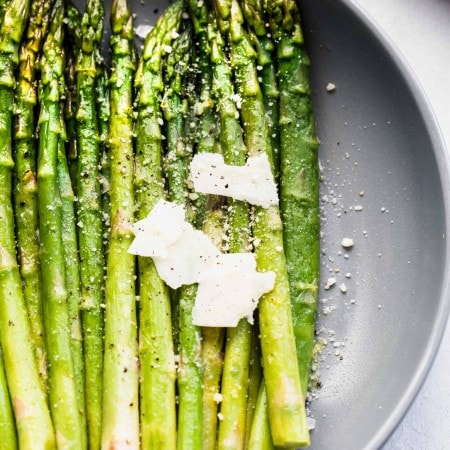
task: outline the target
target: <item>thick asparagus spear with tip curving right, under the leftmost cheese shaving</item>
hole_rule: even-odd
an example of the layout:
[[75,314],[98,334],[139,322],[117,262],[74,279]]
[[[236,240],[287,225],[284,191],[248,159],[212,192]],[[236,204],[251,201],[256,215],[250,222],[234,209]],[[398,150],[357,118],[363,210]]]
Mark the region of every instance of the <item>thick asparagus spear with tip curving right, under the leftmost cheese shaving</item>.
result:
[[[135,195],[137,218],[147,217],[164,198],[161,157],[160,95],[163,46],[180,26],[182,1],[158,19],[144,43],[135,76],[138,90]],[[150,258],[139,264],[140,405],[143,447],[176,447],[175,364],[169,292]]]

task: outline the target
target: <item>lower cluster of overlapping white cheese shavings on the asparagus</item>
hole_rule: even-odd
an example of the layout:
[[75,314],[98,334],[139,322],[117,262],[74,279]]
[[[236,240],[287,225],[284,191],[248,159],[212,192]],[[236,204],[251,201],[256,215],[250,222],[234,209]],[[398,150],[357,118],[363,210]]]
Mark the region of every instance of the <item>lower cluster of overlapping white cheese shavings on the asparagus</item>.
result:
[[[234,327],[273,289],[274,272],[258,272],[253,253],[222,254],[202,231],[185,221],[183,206],[160,200],[132,226],[129,253],[153,258],[159,276],[171,288],[198,283],[193,323]],[[230,282],[232,280],[232,282]]]

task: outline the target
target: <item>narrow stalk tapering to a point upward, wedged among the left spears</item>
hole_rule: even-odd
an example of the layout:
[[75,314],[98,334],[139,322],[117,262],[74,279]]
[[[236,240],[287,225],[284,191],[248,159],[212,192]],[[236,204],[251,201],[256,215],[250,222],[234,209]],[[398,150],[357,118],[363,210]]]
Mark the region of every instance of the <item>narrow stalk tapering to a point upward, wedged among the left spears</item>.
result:
[[[62,125],[64,131],[64,127]],[[69,313],[70,342],[73,360],[73,373],[76,385],[79,416],[83,434],[83,447],[86,447],[86,404],[84,396],[83,337],[80,320],[80,272],[78,260],[78,241],[74,208],[74,194],[70,180],[64,148],[64,135],[58,141],[57,175],[61,197],[62,243],[66,273],[67,308]]]

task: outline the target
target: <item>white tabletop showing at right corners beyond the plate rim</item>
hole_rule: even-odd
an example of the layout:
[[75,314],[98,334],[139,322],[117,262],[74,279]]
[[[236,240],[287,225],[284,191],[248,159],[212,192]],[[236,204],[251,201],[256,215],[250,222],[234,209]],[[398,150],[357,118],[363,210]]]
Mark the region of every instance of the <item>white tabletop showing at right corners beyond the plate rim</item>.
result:
[[[450,1],[353,0],[403,53],[450,151]],[[418,397],[383,450],[450,449],[450,325]]]

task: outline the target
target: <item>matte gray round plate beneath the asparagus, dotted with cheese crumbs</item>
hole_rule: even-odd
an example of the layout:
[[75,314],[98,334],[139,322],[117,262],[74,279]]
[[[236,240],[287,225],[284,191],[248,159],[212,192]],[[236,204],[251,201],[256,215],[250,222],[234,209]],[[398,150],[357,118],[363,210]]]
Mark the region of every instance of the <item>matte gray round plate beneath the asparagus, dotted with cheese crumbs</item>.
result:
[[[131,4],[139,26],[167,3]],[[321,290],[328,344],[312,448],[377,448],[416,395],[446,322],[448,161],[421,89],[367,17],[346,0],[301,8],[324,177],[322,286],[337,280]]]

